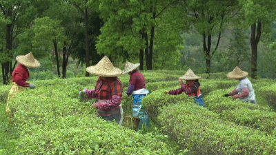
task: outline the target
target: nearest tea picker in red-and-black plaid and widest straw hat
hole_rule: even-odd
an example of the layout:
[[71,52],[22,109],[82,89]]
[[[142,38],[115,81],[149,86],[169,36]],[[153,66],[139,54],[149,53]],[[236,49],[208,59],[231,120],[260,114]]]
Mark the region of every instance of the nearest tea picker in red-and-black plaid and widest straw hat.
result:
[[122,74],[119,68],[115,68],[108,56],[104,56],[97,65],[86,68],[90,74],[99,76],[96,86],[92,90],[86,88],[79,92],[79,96],[87,96],[89,99],[97,99],[90,107],[96,107],[98,116],[106,121],[115,121],[121,126],[123,121],[123,109],[121,98],[123,96],[123,84],[117,76]]

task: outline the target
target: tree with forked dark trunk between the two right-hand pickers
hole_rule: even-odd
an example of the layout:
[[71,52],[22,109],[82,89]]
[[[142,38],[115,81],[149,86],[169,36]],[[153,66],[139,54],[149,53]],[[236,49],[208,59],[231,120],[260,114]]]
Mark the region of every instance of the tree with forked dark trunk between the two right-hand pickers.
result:
[[[186,14],[184,22],[193,23],[193,28],[203,38],[203,52],[208,74],[210,74],[212,56],[219,47],[221,33],[234,20],[233,17],[239,9],[236,0],[184,0],[179,3],[179,16]],[[212,38],[215,35],[218,37],[215,48],[212,48]]]

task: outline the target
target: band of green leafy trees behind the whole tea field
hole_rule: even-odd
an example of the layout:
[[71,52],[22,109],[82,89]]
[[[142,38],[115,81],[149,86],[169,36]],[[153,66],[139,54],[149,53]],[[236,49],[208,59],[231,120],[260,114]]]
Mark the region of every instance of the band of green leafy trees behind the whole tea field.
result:
[[[75,73],[68,68],[70,58],[88,67],[105,55],[119,68],[131,61],[140,70],[210,74],[239,65],[253,79],[275,78],[275,66],[268,63],[275,62],[275,2],[1,1],[1,83],[10,81],[16,56],[28,52],[52,65],[37,72],[63,79]],[[89,76],[83,72],[78,76]]]

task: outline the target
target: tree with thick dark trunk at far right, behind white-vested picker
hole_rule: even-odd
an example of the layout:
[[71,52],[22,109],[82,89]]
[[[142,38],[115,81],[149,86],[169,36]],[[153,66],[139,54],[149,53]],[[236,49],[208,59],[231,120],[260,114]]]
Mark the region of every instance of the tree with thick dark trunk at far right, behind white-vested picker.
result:
[[239,0],[243,6],[246,25],[251,27],[251,78],[257,75],[257,48],[262,32],[270,32],[270,26],[275,20],[276,1],[271,0]]

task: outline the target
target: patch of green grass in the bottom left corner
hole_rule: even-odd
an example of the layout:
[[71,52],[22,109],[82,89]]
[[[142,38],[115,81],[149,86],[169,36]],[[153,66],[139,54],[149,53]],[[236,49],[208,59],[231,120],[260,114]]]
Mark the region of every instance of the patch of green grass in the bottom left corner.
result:
[[19,132],[6,117],[6,103],[0,102],[0,154],[12,154]]

